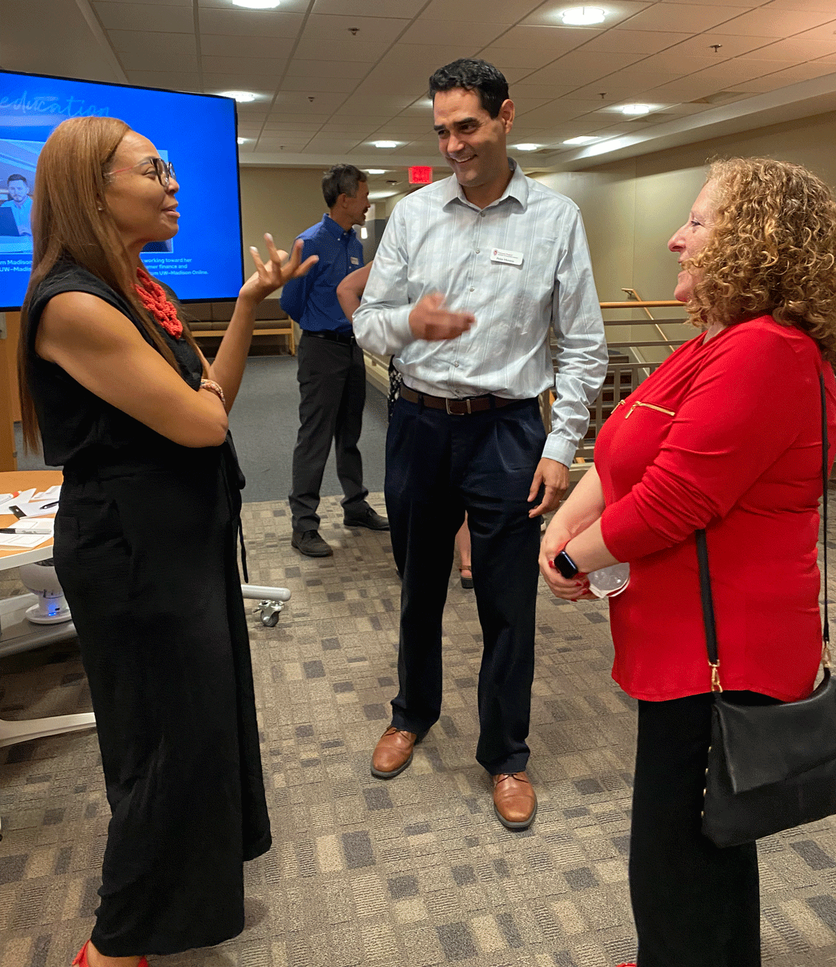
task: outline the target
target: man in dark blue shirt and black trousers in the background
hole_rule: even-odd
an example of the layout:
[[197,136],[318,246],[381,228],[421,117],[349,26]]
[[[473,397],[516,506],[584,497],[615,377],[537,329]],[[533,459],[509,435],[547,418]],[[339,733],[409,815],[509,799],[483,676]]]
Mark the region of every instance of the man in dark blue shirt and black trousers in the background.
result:
[[362,246],[353,225],[369,209],[366,177],[353,164],[335,164],[322,180],[329,211],[299,237],[303,259],[319,262],[303,278],[291,279],[281,293],[281,308],[302,328],[299,342],[299,436],[293,452],[291,543],[308,557],[333,551],[319,535],[319,490],[331,442],[336,445],[336,474],[345,497],[346,527],[389,530],[389,521],[366,503],[358,440],[365,404],[362,350],[336,299],[336,287],[362,265]]

